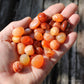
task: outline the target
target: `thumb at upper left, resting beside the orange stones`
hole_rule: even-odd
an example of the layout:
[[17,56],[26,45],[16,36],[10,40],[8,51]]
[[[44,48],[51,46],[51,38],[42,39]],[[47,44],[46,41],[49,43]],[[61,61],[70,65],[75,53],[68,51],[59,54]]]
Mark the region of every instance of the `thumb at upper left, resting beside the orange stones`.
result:
[[0,32],[0,40],[11,41],[13,29],[20,26],[26,28],[31,20],[32,19],[30,17],[26,17],[20,21],[11,22]]

